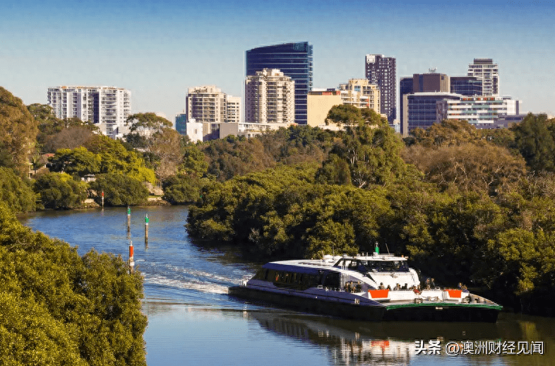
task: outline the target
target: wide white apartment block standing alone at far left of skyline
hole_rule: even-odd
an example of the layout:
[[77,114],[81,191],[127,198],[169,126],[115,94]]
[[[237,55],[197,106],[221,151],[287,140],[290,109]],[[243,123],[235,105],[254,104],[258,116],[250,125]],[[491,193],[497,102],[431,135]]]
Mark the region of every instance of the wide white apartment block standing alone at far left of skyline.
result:
[[93,122],[112,138],[121,135],[131,114],[131,91],[112,86],[48,88],[47,102],[56,117]]

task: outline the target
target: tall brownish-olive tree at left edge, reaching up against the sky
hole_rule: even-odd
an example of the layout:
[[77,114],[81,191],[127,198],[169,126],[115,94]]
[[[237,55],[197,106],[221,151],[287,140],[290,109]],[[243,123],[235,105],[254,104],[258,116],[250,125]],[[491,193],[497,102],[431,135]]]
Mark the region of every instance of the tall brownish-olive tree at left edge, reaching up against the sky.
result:
[[29,157],[37,138],[37,123],[20,98],[0,87],[0,163],[20,177],[29,172]]

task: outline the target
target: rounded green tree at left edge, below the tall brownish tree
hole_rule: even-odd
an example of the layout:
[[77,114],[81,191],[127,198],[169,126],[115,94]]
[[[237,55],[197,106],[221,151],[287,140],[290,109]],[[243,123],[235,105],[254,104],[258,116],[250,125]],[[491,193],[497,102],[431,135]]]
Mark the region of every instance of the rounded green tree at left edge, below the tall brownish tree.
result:
[[36,208],[30,182],[16,176],[7,167],[0,167],[0,202],[16,213],[35,211]]

